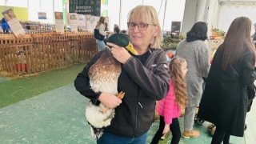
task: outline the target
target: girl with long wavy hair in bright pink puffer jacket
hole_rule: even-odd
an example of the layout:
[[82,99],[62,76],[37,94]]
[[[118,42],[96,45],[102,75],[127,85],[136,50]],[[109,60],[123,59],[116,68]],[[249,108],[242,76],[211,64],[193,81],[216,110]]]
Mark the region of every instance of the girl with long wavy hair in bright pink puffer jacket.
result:
[[181,138],[178,117],[181,115],[181,108],[187,105],[185,75],[186,60],[174,57],[169,64],[170,90],[165,98],[157,104],[157,112],[160,115],[160,125],[154,135],[151,144],[158,144],[163,134],[171,131],[173,138],[171,144],[178,144]]

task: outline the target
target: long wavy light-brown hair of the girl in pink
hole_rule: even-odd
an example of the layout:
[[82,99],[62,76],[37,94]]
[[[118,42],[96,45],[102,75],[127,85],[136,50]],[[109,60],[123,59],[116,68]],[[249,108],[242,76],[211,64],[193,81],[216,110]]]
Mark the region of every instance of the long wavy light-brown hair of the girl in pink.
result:
[[186,62],[186,60],[177,56],[172,58],[169,65],[169,72],[174,83],[175,102],[179,107],[183,108],[187,106],[188,98],[186,93],[186,81],[182,76],[182,62]]

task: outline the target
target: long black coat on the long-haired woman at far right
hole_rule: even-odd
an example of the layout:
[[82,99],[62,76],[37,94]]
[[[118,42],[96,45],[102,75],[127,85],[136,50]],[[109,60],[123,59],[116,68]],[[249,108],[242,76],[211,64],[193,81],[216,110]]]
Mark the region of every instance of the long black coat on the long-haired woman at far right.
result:
[[234,66],[222,70],[223,52],[220,46],[214,55],[198,118],[214,123],[226,134],[243,137],[248,103],[246,86],[253,84],[256,75],[254,55],[245,48]]

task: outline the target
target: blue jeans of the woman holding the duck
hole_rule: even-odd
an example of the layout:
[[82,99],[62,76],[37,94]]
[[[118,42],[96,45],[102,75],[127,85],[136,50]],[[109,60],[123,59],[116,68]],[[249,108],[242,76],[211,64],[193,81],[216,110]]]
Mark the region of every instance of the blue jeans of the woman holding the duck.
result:
[[102,137],[98,139],[97,144],[145,144],[146,138],[147,133],[136,138],[126,138],[103,132]]

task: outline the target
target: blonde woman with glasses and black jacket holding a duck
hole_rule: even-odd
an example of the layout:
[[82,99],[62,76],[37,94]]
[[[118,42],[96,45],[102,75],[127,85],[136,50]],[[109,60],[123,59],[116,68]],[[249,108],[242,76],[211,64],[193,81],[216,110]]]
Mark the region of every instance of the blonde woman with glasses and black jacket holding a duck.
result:
[[162,30],[158,13],[153,6],[136,6],[130,11],[127,23],[128,34],[138,55],[107,43],[113,46],[111,52],[114,58],[122,63],[122,73],[118,78],[118,92],[126,92],[122,101],[114,94],[95,94],[90,89],[88,70],[102,52],[96,54],[74,82],[76,89],[95,105],[102,102],[110,108],[118,106],[98,144],[146,143],[147,132],[154,122],[155,102],[164,98],[169,90],[166,53],[159,49]]

